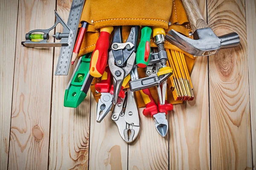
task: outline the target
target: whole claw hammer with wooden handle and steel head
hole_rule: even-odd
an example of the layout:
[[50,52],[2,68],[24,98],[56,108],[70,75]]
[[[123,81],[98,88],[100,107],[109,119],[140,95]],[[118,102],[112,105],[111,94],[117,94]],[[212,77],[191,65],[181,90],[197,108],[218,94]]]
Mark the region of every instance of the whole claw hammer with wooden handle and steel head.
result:
[[236,32],[219,37],[214,34],[204,20],[197,0],[182,0],[182,3],[192,31],[194,31],[193,39],[172,29],[168,32],[172,36],[166,35],[166,40],[194,56],[208,56],[215,54],[219,49],[233,48],[239,45],[240,38]]

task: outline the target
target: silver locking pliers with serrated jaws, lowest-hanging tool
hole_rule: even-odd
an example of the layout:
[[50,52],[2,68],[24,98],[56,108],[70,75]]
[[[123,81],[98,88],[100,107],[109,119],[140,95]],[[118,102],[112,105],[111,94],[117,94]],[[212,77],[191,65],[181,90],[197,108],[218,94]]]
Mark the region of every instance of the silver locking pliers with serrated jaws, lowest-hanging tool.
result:
[[134,92],[125,89],[125,99],[118,97],[113,108],[112,120],[116,123],[119,134],[126,143],[133,142],[140,132],[140,116],[137,109]]

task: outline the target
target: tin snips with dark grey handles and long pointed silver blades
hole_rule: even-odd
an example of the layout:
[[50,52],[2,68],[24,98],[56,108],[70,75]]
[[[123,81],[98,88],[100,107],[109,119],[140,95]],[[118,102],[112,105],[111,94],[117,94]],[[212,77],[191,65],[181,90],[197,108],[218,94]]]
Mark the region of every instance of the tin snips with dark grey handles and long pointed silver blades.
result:
[[129,37],[124,43],[122,42],[122,26],[114,28],[111,50],[108,54],[108,65],[113,75],[114,105],[117,102],[123,80],[135,64],[139,28],[139,26],[132,26]]

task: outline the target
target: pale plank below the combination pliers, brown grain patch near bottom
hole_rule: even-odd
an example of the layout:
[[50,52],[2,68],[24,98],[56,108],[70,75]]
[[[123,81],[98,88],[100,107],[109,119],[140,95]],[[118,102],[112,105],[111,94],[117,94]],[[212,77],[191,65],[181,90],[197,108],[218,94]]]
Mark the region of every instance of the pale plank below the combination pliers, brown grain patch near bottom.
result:
[[126,170],[128,144],[119,135],[109,112],[102,122],[96,122],[97,103],[91,95],[90,170]]

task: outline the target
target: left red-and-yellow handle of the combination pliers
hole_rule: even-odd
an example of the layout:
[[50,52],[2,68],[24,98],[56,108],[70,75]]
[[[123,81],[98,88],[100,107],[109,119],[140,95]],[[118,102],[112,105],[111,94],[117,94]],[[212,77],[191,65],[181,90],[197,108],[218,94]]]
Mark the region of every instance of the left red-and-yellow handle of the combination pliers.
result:
[[100,93],[108,93],[111,85],[111,72],[109,67],[106,67],[104,73],[102,74],[102,79],[99,83],[95,84],[95,90]]

